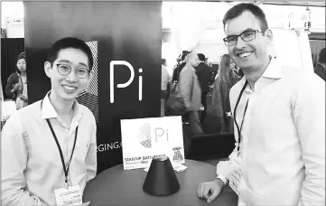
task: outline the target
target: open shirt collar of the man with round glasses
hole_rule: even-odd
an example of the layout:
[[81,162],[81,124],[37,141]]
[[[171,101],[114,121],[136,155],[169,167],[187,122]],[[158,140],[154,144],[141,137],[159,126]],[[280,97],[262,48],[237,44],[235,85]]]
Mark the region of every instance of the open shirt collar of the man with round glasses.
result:
[[[55,109],[52,106],[52,103],[50,101],[50,93],[51,90],[45,95],[45,97],[42,99],[41,103],[41,112],[42,112],[42,118],[58,118],[58,113],[55,111]],[[74,101],[72,108],[74,109],[74,117],[77,117],[78,119],[82,115],[82,111],[79,107],[79,103],[77,100]]]

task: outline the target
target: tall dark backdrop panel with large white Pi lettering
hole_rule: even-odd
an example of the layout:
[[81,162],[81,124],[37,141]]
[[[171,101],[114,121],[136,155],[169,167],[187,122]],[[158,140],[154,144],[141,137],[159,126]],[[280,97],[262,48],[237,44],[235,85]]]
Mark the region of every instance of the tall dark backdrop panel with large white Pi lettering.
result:
[[[43,63],[53,42],[66,36],[98,42],[98,172],[122,163],[120,119],[160,116],[161,5],[161,2],[24,2],[31,103],[51,89]],[[135,71],[134,80],[126,88],[116,87],[130,79],[131,71],[124,65],[114,66],[111,87],[110,63],[115,61],[126,61]],[[143,83],[139,87],[140,76]],[[138,99],[139,90],[142,100]]]

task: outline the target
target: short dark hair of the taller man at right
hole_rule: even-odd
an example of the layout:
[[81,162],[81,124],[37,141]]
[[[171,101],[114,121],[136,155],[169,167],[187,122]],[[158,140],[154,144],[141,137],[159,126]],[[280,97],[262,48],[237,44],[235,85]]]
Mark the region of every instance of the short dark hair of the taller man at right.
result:
[[251,14],[254,14],[256,18],[260,22],[260,29],[265,31],[268,29],[268,23],[266,20],[265,13],[259,6],[251,4],[251,3],[242,3],[233,6],[230,8],[227,12],[227,14],[224,15],[223,18],[223,28],[225,30],[225,25],[228,23],[229,20],[232,20],[234,18],[237,18],[239,15],[244,13],[245,11],[251,12]]

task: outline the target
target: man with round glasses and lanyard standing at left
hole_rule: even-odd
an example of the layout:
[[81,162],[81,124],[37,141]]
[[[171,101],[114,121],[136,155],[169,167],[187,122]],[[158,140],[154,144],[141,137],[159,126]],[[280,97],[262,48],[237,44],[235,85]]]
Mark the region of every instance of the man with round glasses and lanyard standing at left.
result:
[[88,45],[77,38],[51,46],[44,62],[51,90],[3,128],[2,205],[61,205],[67,193],[81,204],[97,173],[95,118],[76,100],[93,77],[92,65]]

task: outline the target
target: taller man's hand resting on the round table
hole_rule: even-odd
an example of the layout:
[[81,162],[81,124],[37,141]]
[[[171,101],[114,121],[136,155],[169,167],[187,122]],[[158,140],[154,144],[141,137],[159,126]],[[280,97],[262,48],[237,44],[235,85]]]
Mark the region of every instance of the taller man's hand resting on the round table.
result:
[[216,179],[213,182],[200,183],[197,190],[197,196],[199,198],[205,198],[207,202],[210,203],[219,196],[219,192],[223,185],[224,183],[219,179]]

